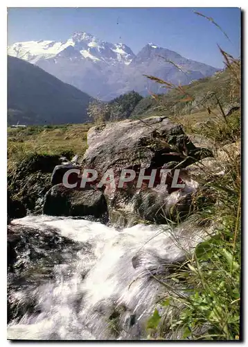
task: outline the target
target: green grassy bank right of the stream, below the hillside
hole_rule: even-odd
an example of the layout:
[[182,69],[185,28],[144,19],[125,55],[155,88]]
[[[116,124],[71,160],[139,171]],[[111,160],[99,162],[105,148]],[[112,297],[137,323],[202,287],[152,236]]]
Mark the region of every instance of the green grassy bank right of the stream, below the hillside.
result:
[[[161,305],[175,310],[158,316],[154,311],[150,337],[155,339],[236,340],[240,339],[241,194],[240,161],[229,153],[227,174],[205,184],[215,203],[204,206],[200,219],[215,223],[209,235],[175,266],[167,281]],[[205,193],[206,194],[206,193]],[[150,322],[148,321],[148,327]]]

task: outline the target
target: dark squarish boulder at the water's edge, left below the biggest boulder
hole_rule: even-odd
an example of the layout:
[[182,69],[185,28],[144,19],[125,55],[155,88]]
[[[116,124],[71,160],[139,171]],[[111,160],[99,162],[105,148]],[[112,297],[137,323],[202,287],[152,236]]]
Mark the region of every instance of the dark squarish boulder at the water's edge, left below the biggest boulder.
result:
[[107,214],[107,203],[98,189],[70,189],[60,183],[46,193],[43,212],[51,216],[99,218]]

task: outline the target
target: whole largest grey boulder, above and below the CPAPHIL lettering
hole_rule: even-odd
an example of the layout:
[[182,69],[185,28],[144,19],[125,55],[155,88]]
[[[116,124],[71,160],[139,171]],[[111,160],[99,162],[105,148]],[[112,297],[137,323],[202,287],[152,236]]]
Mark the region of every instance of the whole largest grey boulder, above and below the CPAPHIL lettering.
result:
[[159,223],[170,217],[175,206],[179,213],[189,210],[191,194],[196,191],[197,183],[191,179],[186,182],[179,176],[181,183],[186,183],[184,188],[172,189],[168,184],[163,189],[158,187],[160,180],[156,177],[154,187],[148,188],[144,182],[140,189],[136,189],[140,170],[145,169],[145,174],[149,174],[152,169],[157,169],[159,177],[161,169],[183,169],[198,160],[213,157],[210,149],[196,147],[181,126],[166,117],[127,119],[95,126],[87,134],[87,143],[82,164],[96,169],[98,180],[107,169],[114,170],[116,183],[121,169],[136,171],[136,178],[123,189],[117,188],[113,192],[110,185],[105,185],[104,194],[109,209],[127,209],[143,219]]

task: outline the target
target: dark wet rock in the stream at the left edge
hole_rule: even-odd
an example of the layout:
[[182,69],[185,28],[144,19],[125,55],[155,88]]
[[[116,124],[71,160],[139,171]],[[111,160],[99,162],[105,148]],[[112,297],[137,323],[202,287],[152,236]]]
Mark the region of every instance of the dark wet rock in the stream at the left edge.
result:
[[87,244],[73,242],[55,228],[39,230],[12,223],[7,229],[7,245],[8,322],[25,314],[38,314],[41,305],[32,295],[35,289],[54,278],[54,266],[70,262],[78,251],[87,253]]

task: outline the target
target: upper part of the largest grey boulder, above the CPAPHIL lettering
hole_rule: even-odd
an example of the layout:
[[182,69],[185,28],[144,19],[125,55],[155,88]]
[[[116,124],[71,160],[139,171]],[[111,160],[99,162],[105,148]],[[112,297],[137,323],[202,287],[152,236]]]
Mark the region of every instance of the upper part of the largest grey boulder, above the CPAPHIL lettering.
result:
[[197,149],[182,127],[166,117],[95,126],[89,129],[87,144],[83,163],[99,174],[110,168],[139,165],[142,169],[182,162]]

